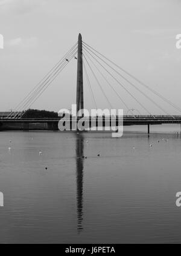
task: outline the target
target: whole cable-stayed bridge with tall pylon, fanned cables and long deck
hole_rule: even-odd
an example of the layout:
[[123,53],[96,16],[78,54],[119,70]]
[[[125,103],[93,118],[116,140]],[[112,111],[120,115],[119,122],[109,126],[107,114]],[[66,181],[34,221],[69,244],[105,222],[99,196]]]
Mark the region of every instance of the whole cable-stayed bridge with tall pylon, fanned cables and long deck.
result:
[[[77,93],[76,93],[76,104],[77,104],[77,121],[81,118],[84,118],[84,122],[89,123],[88,126],[91,127],[91,121],[94,121],[96,127],[100,125],[98,116],[90,116],[86,118],[84,115],[84,81],[83,75],[87,80],[87,85],[89,87],[90,98],[92,99],[92,103],[94,103],[95,109],[98,109],[97,102],[95,99],[95,95],[90,83],[90,77],[87,72],[87,68],[91,72],[93,78],[95,79],[95,83],[97,83],[98,88],[100,89],[103,97],[106,99],[107,104],[110,109],[113,109],[112,103],[110,103],[109,96],[106,95],[106,91],[102,87],[100,80],[97,78],[95,74],[95,70],[97,73],[101,75],[104,83],[107,84],[109,89],[115,93],[115,96],[119,98],[121,101],[121,108],[125,109],[127,113],[133,111],[131,109],[122,95],[118,93],[118,90],[115,89],[113,84],[118,84],[124,93],[130,96],[134,100],[134,102],[144,110],[145,114],[142,115],[138,110],[139,115],[124,115],[123,116],[123,124],[124,126],[132,126],[132,125],[145,125],[148,127],[148,133],[150,133],[150,125],[151,124],[180,124],[181,127],[181,115],[171,115],[168,113],[164,107],[160,104],[160,101],[168,104],[169,107],[172,107],[174,110],[177,110],[181,114],[180,107],[171,103],[170,100],[165,98],[163,95],[157,93],[155,90],[151,89],[147,86],[147,84],[143,83],[141,80],[127,72],[126,70],[119,67],[113,61],[108,59],[106,56],[95,50],[93,47],[88,45],[86,42],[83,42],[81,34],[78,35],[78,42],[57,62],[56,66],[54,66],[49,73],[31,90],[30,93],[16,106],[16,111],[11,111],[8,116],[2,118],[0,120],[0,130],[8,129],[20,129],[20,130],[29,130],[30,124],[46,124],[47,129],[58,130],[58,123],[60,121],[59,118],[25,118],[25,113],[28,109],[34,104],[35,101],[42,95],[42,93],[52,84],[54,79],[62,72],[63,69],[72,61],[72,59],[77,61]],[[87,66],[87,67],[86,67]],[[84,71],[84,72],[83,72]],[[103,71],[106,72],[106,75],[103,74]],[[110,83],[109,78],[112,78],[112,83]],[[121,79],[121,80],[120,80]],[[125,84],[122,82],[127,84]],[[159,111],[162,112],[160,115],[154,115],[148,110],[147,106],[144,103],[139,101],[132,90],[129,89],[128,85],[132,87],[137,93],[144,96],[147,101],[152,103],[154,107],[157,107]],[[139,86],[138,86],[139,85]],[[147,90],[147,93],[142,90],[144,88]],[[149,92],[149,93],[148,93]],[[156,96],[159,99],[159,103],[153,98],[151,98],[151,94]],[[125,111],[125,112],[126,112]],[[71,122],[72,127],[72,116],[70,115],[69,120]],[[111,121],[116,122],[116,126],[118,126],[118,116],[115,116],[111,119],[111,116],[103,116],[103,127],[107,124],[111,125]]]

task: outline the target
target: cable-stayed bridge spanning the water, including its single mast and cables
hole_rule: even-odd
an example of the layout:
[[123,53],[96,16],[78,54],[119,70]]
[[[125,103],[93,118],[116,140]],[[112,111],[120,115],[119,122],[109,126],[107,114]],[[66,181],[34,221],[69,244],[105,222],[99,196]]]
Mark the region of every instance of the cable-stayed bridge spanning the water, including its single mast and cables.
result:
[[[77,120],[84,116],[84,105],[86,104],[84,100],[84,80],[86,80],[87,88],[89,89],[89,98],[92,100],[92,106],[94,106],[94,109],[99,107],[97,93],[94,92],[92,86],[92,79],[94,79],[94,85],[96,84],[97,90],[101,92],[101,100],[104,99],[109,109],[115,109],[110,100],[110,92],[111,96],[114,95],[119,100],[119,109],[124,109],[124,113],[127,113],[123,117],[124,125],[147,125],[149,133],[150,124],[181,124],[181,109],[179,106],[176,106],[164,95],[156,92],[136,76],[122,69],[115,62],[95,50],[84,42],[81,35],[79,35],[78,42],[72,46],[33,90],[17,104],[16,111],[11,111],[6,118],[0,120],[0,129],[3,130],[6,124],[22,124],[22,129],[29,130],[29,124],[31,123],[46,123],[48,129],[56,130],[60,118],[26,118],[26,113],[72,60],[77,61]],[[109,93],[106,92],[106,88],[109,88]],[[121,92],[119,89],[121,89]],[[132,106],[136,106],[135,109],[127,103],[128,97],[129,101],[132,99]],[[141,98],[144,100],[141,101]],[[159,115],[154,115],[146,103],[157,109]],[[169,106],[171,111],[177,111],[178,115],[168,113],[164,107],[165,105]],[[139,110],[137,110],[138,108]],[[137,111],[136,114],[133,113],[134,110]],[[130,112],[132,115],[128,115]],[[106,119],[110,117],[106,116]],[[91,118],[87,118],[86,121],[91,126]],[[115,116],[115,121],[118,121],[118,116]],[[98,126],[98,121],[95,120],[95,122],[96,126]],[[103,126],[105,126],[105,123],[105,120],[103,120]]]

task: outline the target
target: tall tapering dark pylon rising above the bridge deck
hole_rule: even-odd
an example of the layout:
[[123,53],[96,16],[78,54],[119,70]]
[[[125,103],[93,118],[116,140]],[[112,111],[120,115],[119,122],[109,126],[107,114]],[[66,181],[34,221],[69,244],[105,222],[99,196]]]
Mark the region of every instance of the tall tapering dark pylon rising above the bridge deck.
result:
[[[83,94],[83,53],[82,53],[82,37],[78,35],[78,56],[77,56],[77,115],[83,116],[84,94]],[[81,111],[82,110],[82,111]]]

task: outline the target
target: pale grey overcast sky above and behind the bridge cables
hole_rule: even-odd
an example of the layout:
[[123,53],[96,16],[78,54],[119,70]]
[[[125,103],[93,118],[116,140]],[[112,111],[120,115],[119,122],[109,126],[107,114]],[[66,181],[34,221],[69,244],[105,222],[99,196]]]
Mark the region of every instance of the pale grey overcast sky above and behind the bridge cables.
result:
[[[0,0],[0,34],[4,36],[0,110],[15,109],[77,42],[78,33],[84,42],[181,108],[181,49],[176,49],[180,9],[180,0]],[[69,109],[75,104],[76,76],[74,59],[32,107]],[[91,73],[90,83],[97,106],[109,107]],[[145,113],[115,81],[110,83],[128,109]],[[103,81],[102,85],[112,106],[124,108]],[[130,85],[125,86],[151,113],[162,113]],[[149,91],[145,93],[168,113],[180,114]],[[85,78],[84,103],[87,109],[94,108]]]

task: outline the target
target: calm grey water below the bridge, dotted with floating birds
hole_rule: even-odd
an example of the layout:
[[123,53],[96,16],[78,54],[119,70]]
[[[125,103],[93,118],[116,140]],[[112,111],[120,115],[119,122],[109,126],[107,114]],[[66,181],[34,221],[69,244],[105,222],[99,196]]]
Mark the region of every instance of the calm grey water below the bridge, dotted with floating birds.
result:
[[0,243],[181,243],[180,127],[154,129],[1,132]]

